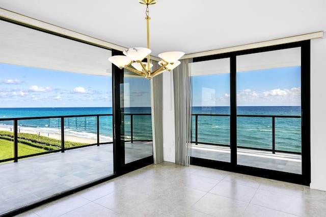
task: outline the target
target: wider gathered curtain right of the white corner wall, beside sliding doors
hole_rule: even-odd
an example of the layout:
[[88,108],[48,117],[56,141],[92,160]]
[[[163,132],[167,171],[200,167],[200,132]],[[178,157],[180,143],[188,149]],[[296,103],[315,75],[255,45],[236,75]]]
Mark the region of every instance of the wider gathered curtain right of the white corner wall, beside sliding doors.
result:
[[192,120],[191,59],[182,59],[180,61],[181,64],[173,70],[175,160],[176,164],[189,166]]

